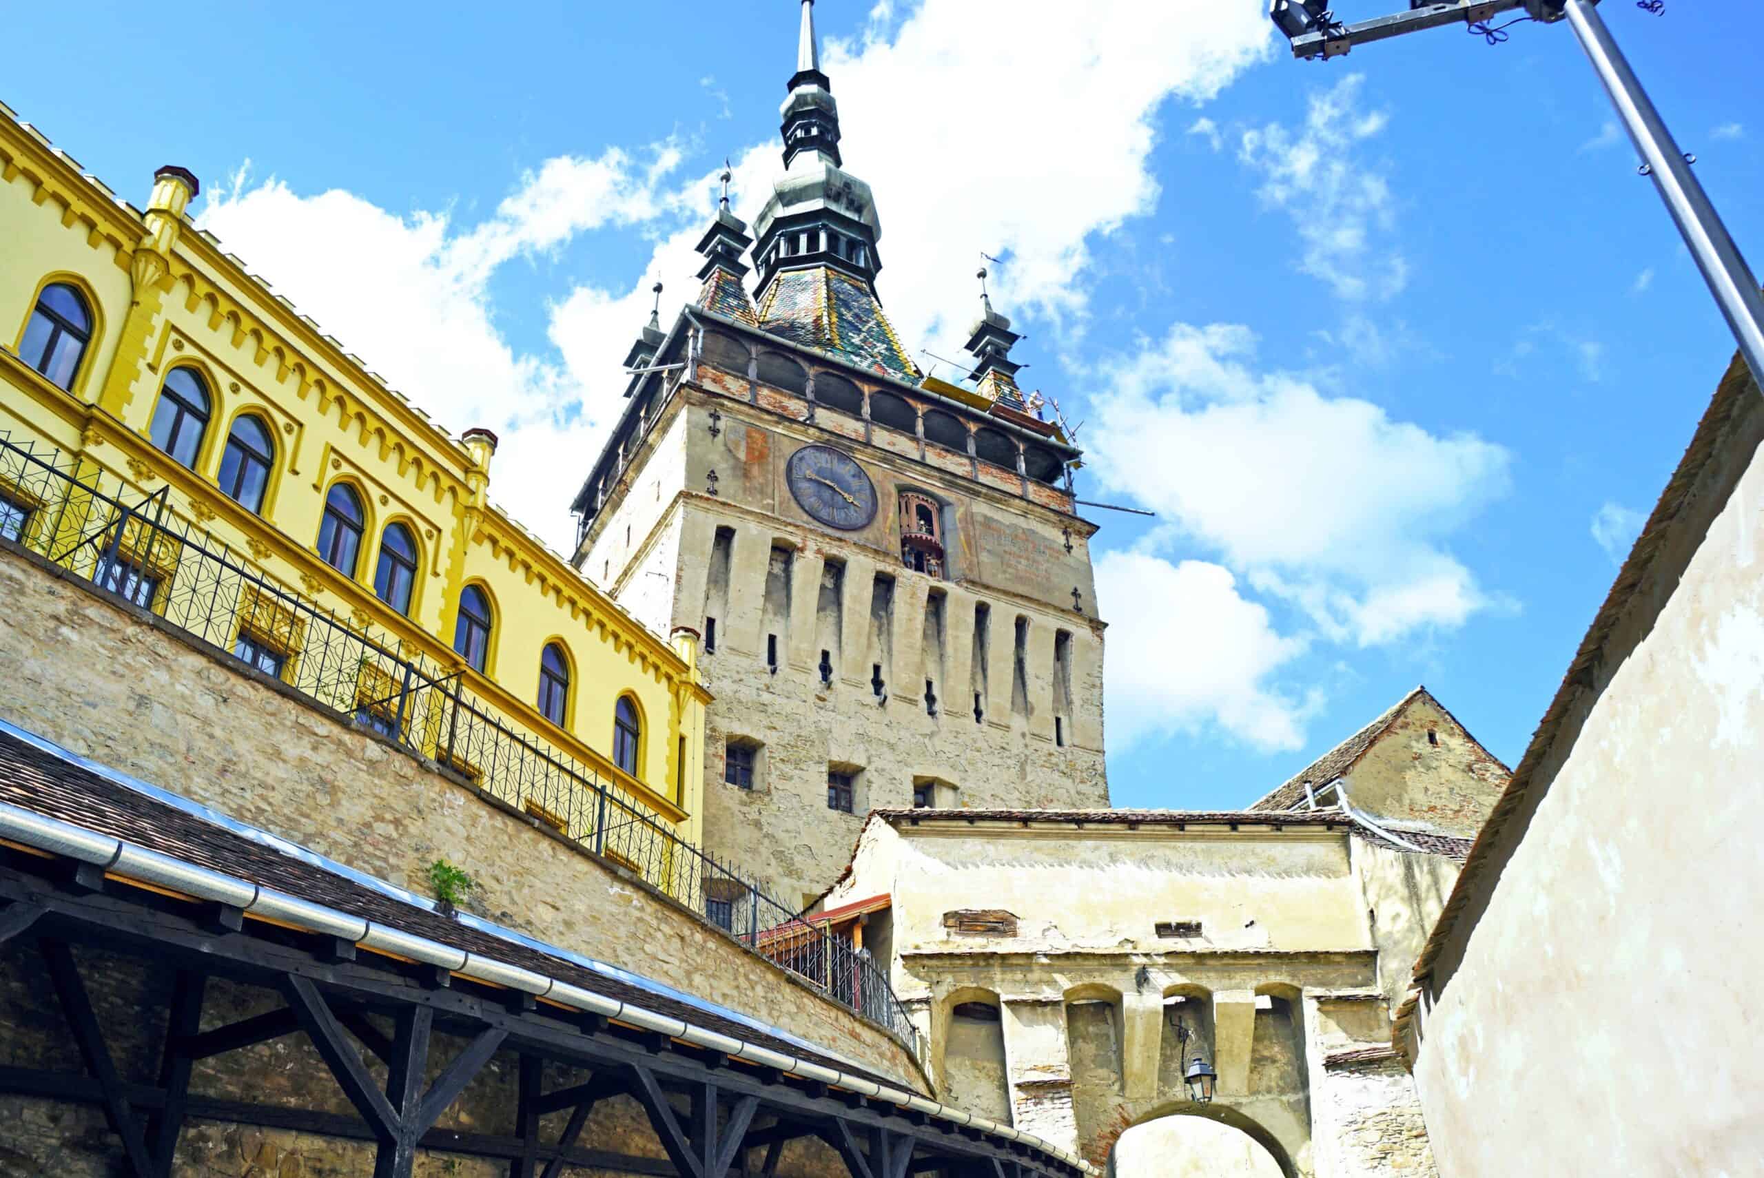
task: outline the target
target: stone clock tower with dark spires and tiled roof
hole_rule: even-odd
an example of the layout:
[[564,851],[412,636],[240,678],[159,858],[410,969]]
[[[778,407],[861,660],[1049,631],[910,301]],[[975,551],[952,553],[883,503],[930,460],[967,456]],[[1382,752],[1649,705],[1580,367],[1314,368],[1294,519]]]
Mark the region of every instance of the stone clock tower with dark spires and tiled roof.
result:
[[811,0],[781,115],[783,175],[751,233],[725,192],[699,296],[626,356],[573,510],[584,575],[700,635],[706,850],[806,903],[870,809],[1106,806],[1108,785],[1078,450],[1025,404],[984,298],[965,384],[894,337]]

